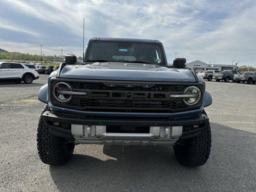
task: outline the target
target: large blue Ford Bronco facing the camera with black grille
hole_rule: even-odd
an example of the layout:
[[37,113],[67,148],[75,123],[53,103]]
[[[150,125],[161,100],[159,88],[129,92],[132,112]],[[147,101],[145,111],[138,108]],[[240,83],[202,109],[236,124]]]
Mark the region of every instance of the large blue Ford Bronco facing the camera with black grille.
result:
[[145,39],[91,38],[83,62],[66,55],[38,94],[42,162],[66,163],[76,144],[165,144],[182,165],[205,164],[212,97],[185,63],[168,66],[163,44]]

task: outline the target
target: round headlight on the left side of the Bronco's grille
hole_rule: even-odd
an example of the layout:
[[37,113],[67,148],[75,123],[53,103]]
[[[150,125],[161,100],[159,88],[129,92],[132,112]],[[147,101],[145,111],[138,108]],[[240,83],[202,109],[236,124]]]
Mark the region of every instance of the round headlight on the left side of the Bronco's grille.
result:
[[60,103],[66,103],[72,98],[72,95],[67,94],[67,91],[72,91],[72,88],[69,84],[64,82],[57,82],[52,87],[52,96],[56,101]]

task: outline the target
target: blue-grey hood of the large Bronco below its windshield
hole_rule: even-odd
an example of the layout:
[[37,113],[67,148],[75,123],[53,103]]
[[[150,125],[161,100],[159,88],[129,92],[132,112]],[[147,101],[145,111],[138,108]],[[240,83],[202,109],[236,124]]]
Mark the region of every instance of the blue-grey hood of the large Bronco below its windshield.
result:
[[196,82],[192,72],[186,69],[123,62],[95,62],[86,65],[67,65],[60,72],[59,78]]

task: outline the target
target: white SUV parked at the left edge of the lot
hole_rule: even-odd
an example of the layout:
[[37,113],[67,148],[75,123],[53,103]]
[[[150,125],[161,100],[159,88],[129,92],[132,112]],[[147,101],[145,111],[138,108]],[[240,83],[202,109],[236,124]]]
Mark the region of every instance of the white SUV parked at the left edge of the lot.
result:
[[0,62],[0,82],[32,83],[38,78],[38,69],[33,64]]

